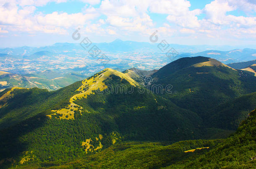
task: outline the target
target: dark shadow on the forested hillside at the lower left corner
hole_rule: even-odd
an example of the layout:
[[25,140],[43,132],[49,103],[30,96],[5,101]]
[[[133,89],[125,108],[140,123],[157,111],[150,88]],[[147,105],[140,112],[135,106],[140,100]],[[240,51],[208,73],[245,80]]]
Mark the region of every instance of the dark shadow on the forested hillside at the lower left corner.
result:
[[[9,168],[16,160],[17,156],[20,156],[27,150],[29,143],[25,139],[21,139],[21,136],[34,131],[35,129],[44,125],[47,120],[47,116],[44,114],[38,114],[22,121],[10,128],[2,129],[0,131],[0,168]],[[33,138],[28,138],[32,140]],[[16,161],[18,162],[18,161]]]

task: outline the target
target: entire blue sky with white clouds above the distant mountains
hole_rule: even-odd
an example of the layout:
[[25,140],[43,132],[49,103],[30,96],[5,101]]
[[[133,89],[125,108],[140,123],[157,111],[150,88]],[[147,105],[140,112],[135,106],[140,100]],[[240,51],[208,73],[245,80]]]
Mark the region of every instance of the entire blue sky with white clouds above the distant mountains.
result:
[[0,0],[0,48],[79,43],[76,30],[94,43],[152,43],[155,32],[168,43],[255,45],[256,0]]

